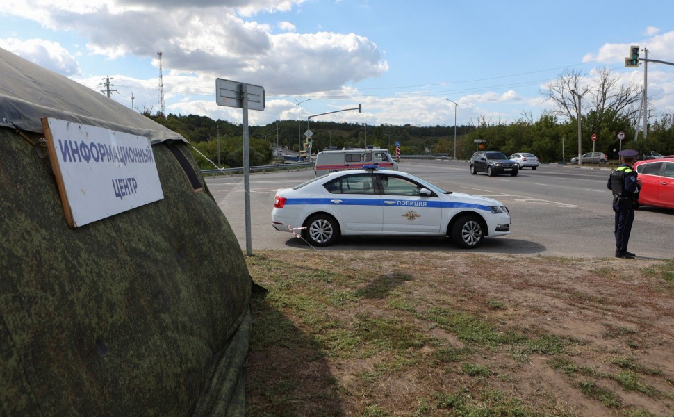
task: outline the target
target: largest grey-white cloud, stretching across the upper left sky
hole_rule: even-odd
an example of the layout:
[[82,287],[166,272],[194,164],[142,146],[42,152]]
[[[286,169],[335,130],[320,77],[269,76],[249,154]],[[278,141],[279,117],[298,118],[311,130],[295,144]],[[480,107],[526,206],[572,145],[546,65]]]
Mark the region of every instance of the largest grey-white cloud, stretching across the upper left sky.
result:
[[202,88],[222,77],[295,95],[297,90],[340,88],[388,71],[377,44],[363,36],[294,33],[295,26],[288,22],[279,26],[289,32],[273,34],[270,26],[241,17],[289,10],[303,1],[75,0],[62,5],[28,0],[28,8],[40,9],[40,14],[24,8],[18,13],[50,28],[85,35],[88,49],[106,58],[138,56],[154,59],[156,65],[156,53],[162,51],[164,68],[202,74],[199,78],[208,80]]

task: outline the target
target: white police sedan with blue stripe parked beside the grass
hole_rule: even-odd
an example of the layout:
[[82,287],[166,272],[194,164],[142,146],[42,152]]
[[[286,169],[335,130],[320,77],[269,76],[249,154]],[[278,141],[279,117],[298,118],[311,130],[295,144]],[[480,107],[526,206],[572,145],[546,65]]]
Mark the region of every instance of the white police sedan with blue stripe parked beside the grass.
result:
[[277,190],[272,225],[315,246],[340,236],[450,236],[459,247],[474,248],[485,237],[510,233],[510,213],[496,200],[445,191],[406,172],[365,168]]

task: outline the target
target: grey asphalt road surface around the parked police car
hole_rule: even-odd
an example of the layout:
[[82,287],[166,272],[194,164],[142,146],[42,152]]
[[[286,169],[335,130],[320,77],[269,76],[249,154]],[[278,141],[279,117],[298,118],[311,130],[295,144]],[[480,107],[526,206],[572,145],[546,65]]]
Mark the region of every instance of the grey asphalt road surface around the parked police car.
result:
[[[517,177],[471,175],[468,163],[462,161],[402,161],[399,168],[447,191],[483,195],[509,208],[512,233],[485,239],[482,247],[471,252],[614,256],[614,213],[611,192],[606,188],[610,173],[607,168],[544,164],[535,171],[520,170]],[[276,190],[313,177],[313,170],[251,175],[253,254],[256,249],[314,250],[292,234],[273,229],[270,220]],[[208,177],[206,183],[227,215],[242,249],[246,250],[243,177]],[[672,224],[674,211],[639,209],[632,228],[630,252],[641,258],[674,259]],[[317,250],[466,251],[452,245],[450,240],[426,238],[348,238]]]

